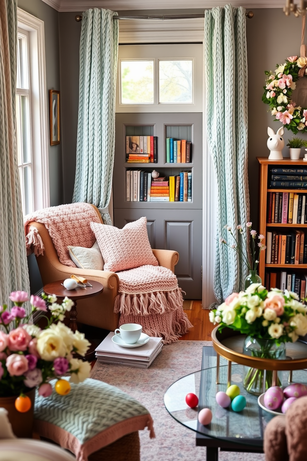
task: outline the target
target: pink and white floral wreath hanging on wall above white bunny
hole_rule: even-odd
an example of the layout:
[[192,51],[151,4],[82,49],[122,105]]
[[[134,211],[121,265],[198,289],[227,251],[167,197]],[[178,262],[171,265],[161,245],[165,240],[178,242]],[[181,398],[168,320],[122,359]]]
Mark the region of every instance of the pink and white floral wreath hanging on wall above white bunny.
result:
[[307,77],[307,59],[290,56],[287,62],[278,65],[274,74],[270,71],[265,73],[267,80],[262,100],[270,105],[274,121],[279,120],[294,134],[298,131],[307,132],[307,108],[296,106],[291,99],[295,82],[301,77]]

